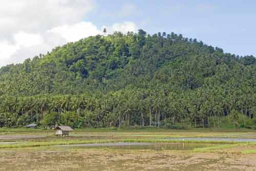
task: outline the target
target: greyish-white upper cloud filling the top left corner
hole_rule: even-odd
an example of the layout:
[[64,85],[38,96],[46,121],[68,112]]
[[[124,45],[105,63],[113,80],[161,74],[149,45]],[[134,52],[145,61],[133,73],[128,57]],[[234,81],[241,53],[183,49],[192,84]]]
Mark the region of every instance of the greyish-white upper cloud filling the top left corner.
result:
[[93,0],[1,0],[0,38],[19,31],[44,32],[79,22],[94,9]]

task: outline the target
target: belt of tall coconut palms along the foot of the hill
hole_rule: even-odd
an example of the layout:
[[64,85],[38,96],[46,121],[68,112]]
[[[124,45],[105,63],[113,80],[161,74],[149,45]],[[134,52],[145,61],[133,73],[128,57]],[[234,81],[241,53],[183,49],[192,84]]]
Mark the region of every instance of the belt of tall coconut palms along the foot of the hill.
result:
[[[1,99],[0,125],[37,123],[82,127],[165,126],[256,128],[250,90],[222,88],[185,92],[123,90],[83,95],[43,95]],[[254,119],[253,119],[254,118]]]

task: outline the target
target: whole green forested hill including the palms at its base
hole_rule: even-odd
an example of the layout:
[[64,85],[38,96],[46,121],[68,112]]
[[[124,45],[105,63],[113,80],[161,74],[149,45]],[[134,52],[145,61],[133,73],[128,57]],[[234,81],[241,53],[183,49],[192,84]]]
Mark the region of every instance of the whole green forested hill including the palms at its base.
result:
[[0,69],[0,126],[254,127],[256,65],[175,33],[115,33]]

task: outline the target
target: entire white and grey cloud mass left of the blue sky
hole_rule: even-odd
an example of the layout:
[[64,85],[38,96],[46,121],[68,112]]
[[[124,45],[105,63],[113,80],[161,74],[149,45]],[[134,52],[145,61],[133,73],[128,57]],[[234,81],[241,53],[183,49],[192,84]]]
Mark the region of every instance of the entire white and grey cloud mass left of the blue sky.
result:
[[[0,6],[0,67],[22,62],[51,51],[69,41],[102,34],[102,29],[84,16],[95,8],[94,0],[2,0]],[[4,4],[4,5],[3,5]],[[132,22],[107,27],[115,31],[137,31]]]

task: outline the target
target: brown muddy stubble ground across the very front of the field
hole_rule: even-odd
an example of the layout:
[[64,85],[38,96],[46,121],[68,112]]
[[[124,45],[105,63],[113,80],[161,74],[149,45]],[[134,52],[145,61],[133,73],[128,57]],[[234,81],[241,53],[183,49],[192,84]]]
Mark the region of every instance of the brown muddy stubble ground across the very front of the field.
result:
[[256,154],[28,148],[1,151],[0,170],[256,170]]

